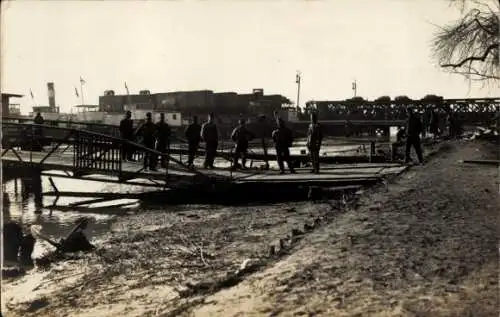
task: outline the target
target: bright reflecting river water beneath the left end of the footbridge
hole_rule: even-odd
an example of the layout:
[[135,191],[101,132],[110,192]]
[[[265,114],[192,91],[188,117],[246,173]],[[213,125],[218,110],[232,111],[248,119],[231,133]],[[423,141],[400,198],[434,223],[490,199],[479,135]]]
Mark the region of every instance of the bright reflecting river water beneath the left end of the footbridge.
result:
[[[54,182],[59,188],[70,191],[121,192],[139,190],[138,188],[130,188],[132,186],[128,186],[129,188],[124,185],[110,186],[106,183],[64,178],[54,178]],[[124,204],[124,200],[90,204],[85,206],[84,211],[86,212],[82,213],[79,207],[71,207],[71,203],[89,198],[61,197],[57,201],[57,205],[61,208],[51,208],[54,197],[44,197],[42,193],[52,190],[48,178],[40,177],[40,175],[6,181],[2,184],[3,221],[18,222],[25,233],[29,231],[30,225],[40,225],[44,235],[58,240],[69,232],[79,218],[85,216],[89,218],[89,224],[85,230],[86,235],[90,240],[96,240],[109,230],[111,221],[116,215],[126,214],[127,209],[120,207]],[[126,202],[134,203],[135,201],[127,200]],[[134,208],[134,205],[129,205],[129,208]],[[48,249],[52,249],[52,247],[37,241],[33,255],[38,257]]]

